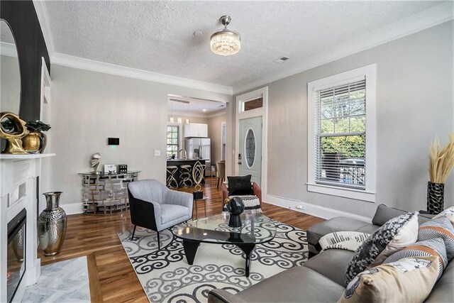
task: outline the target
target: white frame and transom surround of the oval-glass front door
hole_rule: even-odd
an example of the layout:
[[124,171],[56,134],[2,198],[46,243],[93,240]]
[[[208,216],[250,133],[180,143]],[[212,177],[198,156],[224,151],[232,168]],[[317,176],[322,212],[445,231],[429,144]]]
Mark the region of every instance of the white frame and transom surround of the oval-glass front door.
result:
[[[243,104],[247,101],[262,97],[263,106],[260,109],[251,109],[243,111]],[[262,167],[261,167],[261,184],[263,194],[267,194],[267,134],[268,134],[268,87],[255,89],[253,92],[240,94],[236,96],[236,121],[235,121],[235,153],[233,162],[235,163],[235,175],[238,175],[238,152],[240,148],[240,120],[262,117]]]

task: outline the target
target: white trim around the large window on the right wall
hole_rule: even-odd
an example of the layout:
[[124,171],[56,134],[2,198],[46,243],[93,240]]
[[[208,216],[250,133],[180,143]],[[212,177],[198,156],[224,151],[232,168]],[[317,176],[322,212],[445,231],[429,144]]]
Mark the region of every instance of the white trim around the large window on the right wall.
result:
[[[365,161],[365,189],[337,187],[333,185],[318,184],[315,179],[315,109],[314,91],[328,87],[340,86],[354,81],[358,77],[366,78],[366,161]],[[338,197],[375,202],[376,190],[376,159],[377,159],[377,110],[376,110],[376,82],[377,65],[371,64],[364,67],[341,72],[339,74],[318,79],[307,83],[307,190],[320,194],[330,194]]]

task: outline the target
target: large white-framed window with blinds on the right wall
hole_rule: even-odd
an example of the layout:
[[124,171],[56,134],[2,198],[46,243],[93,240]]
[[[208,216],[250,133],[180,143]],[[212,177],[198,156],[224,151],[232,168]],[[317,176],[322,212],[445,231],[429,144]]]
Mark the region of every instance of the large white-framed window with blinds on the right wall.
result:
[[308,190],[375,200],[375,65],[308,84]]

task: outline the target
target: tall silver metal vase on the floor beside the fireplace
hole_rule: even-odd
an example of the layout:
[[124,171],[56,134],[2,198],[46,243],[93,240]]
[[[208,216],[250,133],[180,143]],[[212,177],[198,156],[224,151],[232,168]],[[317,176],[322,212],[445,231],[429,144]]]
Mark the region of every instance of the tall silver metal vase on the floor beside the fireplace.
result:
[[66,213],[58,206],[62,192],[45,192],[46,209],[38,216],[38,238],[45,256],[60,253],[66,235]]

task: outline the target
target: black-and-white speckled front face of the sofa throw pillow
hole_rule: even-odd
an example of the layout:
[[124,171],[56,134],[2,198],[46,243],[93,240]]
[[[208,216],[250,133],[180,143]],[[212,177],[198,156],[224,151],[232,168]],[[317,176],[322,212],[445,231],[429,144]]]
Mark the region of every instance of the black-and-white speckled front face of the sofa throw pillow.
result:
[[417,220],[417,217],[417,211],[397,216],[380,226],[375,233],[372,233],[355,251],[353,259],[348,264],[345,284],[348,284],[356,275],[369,267],[384,248],[387,247],[388,243],[392,241],[394,236],[412,219],[416,218]]

